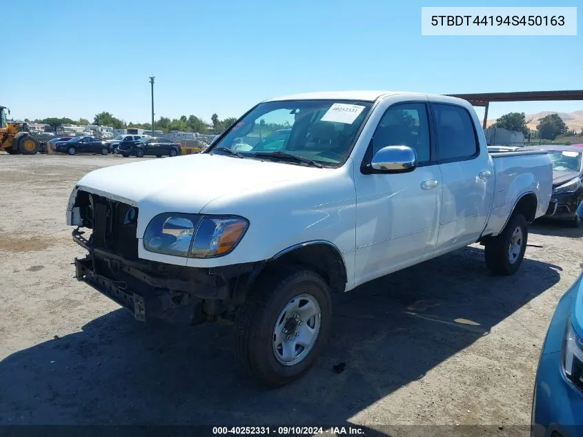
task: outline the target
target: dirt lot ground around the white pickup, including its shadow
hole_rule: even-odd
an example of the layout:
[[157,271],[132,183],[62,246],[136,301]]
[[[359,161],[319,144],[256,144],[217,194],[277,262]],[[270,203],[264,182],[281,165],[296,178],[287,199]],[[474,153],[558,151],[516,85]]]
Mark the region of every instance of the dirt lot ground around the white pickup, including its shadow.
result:
[[70,191],[95,168],[137,160],[0,154],[0,424],[493,425],[503,435],[530,423],[540,348],[581,271],[583,230],[532,226],[511,277],[489,273],[476,245],[342,295],[315,368],[267,391],[238,369],[230,327],[146,326],[73,278],[83,249],[65,223]]

